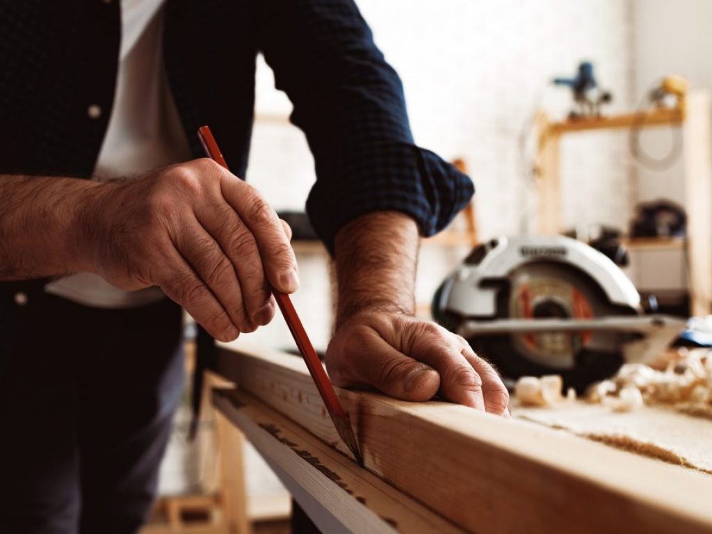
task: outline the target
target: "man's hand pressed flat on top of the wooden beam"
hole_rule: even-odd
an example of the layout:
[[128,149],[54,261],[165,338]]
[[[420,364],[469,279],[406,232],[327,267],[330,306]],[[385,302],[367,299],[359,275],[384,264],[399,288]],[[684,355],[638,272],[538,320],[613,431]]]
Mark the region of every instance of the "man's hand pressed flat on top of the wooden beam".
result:
[[508,415],[497,372],[463,337],[403,313],[364,311],[340,325],[326,352],[334,384],[375,387],[397,399],[451,402]]

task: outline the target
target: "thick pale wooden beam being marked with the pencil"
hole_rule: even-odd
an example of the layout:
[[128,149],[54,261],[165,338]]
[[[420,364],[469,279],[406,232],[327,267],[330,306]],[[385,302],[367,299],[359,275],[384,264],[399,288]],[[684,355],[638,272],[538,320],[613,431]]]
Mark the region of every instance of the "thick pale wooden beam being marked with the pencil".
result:
[[[229,346],[219,372],[347,454],[300,359]],[[712,532],[708,476],[454,404],[338,394],[367,468],[465,530]]]

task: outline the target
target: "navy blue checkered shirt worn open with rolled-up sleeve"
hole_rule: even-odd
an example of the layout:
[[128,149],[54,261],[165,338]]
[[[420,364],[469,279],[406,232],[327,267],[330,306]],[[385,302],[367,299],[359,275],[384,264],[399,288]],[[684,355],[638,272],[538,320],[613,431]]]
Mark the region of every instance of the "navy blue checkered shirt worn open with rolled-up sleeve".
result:
[[[119,2],[0,0],[0,174],[89,177],[110,113]],[[209,124],[244,176],[261,51],[293,102],[317,180],[307,201],[332,250],[338,229],[377,210],[443,229],[471,180],[414,145],[401,82],[352,0],[167,0],[164,59],[194,157]],[[288,184],[286,184],[288,187]]]

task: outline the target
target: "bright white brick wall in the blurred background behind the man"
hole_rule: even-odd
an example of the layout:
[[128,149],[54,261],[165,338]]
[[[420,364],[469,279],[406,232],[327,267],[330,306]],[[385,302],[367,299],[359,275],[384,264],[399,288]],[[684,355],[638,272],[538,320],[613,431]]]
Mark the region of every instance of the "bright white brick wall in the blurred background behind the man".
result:
[[[565,116],[570,94],[550,86],[582,59],[595,62],[602,85],[614,93],[610,110],[632,106],[632,0],[357,0],[377,44],[405,85],[419,145],[447,159],[464,157],[476,182],[481,238],[527,229],[533,206],[522,178],[518,140],[536,108]],[[314,180],[303,135],[286,121],[288,100],[273,90],[261,65],[258,121],[248,179],[278,209],[301,209]],[[261,117],[261,120],[260,120]],[[567,225],[627,225],[634,201],[622,134],[584,134],[562,150]],[[460,258],[428,251],[418,298],[430,299]],[[310,258],[302,278],[309,294],[296,296],[318,345],[328,341],[325,270]],[[300,259],[300,263],[302,260]],[[287,342],[281,320],[254,336]]]

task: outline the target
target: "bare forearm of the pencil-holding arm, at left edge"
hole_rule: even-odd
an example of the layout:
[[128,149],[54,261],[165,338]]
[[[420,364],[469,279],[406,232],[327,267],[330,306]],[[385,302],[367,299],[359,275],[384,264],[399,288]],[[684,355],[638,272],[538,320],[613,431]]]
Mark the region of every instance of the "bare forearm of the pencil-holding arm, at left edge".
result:
[[75,178],[0,175],[0,280],[82,270],[80,209],[98,187]]

